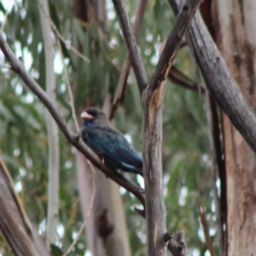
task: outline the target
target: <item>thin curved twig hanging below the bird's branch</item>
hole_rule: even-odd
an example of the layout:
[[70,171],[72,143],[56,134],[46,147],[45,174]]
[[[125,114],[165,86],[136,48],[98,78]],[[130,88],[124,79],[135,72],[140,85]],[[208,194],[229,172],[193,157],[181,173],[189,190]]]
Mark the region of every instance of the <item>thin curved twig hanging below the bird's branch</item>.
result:
[[95,200],[95,194],[96,194],[95,170],[94,170],[94,166],[91,165],[90,160],[87,160],[87,162],[88,162],[88,165],[90,166],[90,171],[92,172],[92,181],[91,181],[92,182],[92,195],[90,197],[89,209],[88,209],[88,212],[86,213],[86,216],[84,218],[84,223],[82,224],[82,226],[81,226],[81,228],[79,230],[78,235],[73,240],[72,244],[68,247],[67,252],[64,253],[62,256],[67,256],[67,254],[71,252],[71,250],[73,249],[75,244],[79,241],[79,236],[81,236],[81,234],[82,234],[82,232],[83,232],[83,230],[84,230],[84,228],[86,226],[87,219],[90,216],[90,212],[92,210],[93,203],[94,203],[94,200]]

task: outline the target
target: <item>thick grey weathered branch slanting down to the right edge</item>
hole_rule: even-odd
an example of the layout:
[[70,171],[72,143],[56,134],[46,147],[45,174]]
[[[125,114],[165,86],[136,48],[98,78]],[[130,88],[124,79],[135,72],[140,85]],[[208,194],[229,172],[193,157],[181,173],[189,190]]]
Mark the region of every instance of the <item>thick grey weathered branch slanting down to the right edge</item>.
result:
[[[177,15],[181,1],[168,0]],[[201,15],[195,14],[187,32],[189,47],[194,51],[197,65],[206,80],[207,88],[224,113],[256,152],[256,115],[241,93],[224,58],[214,44]]]

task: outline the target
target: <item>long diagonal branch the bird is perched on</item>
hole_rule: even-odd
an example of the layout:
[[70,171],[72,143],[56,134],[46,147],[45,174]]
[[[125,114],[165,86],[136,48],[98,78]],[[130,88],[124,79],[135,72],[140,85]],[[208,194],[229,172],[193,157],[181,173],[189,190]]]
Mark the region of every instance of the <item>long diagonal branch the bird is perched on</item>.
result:
[[143,189],[136,183],[131,183],[125,177],[121,176],[119,173],[113,172],[113,170],[110,170],[107,166],[102,164],[102,161],[100,160],[100,158],[88,146],[86,146],[83,143],[80,137],[68,129],[67,123],[61,117],[60,113],[57,112],[55,105],[53,104],[53,102],[49,100],[49,96],[47,96],[47,94],[39,86],[39,84],[37,84],[36,81],[32,79],[30,74],[27,73],[25,67],[15,57],[15,54],[9,48],[9,45],[4,40],[3,33],[1,32],[0,32],[0,48],[2,49],[5,57],[8,59],[11,69],[20,76],[20,78],[23,80],[26,86],[30,88],[33,91],[33,93],[36,96],[38,96],[39,100],[44,103],[44,106],[48,108],[49,113],[55,119],[55,122],[61,129],[64,136],[67,138],[67,141],[73,144],[75,148],[79,149],[79,151],[82,152],[86,156],[86,158],[88,158],[97,168],[99,168],[108,177],[112,178],[113,181],[115,181],[116,183],[119,183],[120,186],[127,189],[129,192],[131,192],[131,194],[137,196],[137,199],[141,201],[141,203],[144,206]]

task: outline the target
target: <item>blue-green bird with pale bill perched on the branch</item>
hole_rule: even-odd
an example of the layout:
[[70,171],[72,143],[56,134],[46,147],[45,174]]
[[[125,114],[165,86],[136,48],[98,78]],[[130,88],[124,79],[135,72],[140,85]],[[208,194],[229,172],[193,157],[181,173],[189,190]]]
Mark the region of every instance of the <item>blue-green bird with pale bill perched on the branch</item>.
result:
[[143,176],[143,158],[125,137],[110,125],[102,110],[86,108],[81,113],[84,124],[80,137],[109,168]]

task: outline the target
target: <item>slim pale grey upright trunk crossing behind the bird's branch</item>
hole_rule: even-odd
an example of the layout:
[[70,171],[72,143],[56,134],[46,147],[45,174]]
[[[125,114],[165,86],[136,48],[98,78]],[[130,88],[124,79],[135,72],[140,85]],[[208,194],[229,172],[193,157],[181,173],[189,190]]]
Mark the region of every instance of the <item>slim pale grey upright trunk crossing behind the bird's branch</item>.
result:
[[[56,83],[54,71],[54,44],[52,41],[51,28],[49,25],[48,0],[40,0],[38,9],[41,20],[42,34],[44,40],[46,93],[52,102],[56,104]],[[60,170],[60,150],[59,150],[59,130],[55,120],[50,113],[45,113],[47,137],[48,137],[48,205],[47,205],[47,240],[55,243],[56,228],[59,219],[59,170]]]

